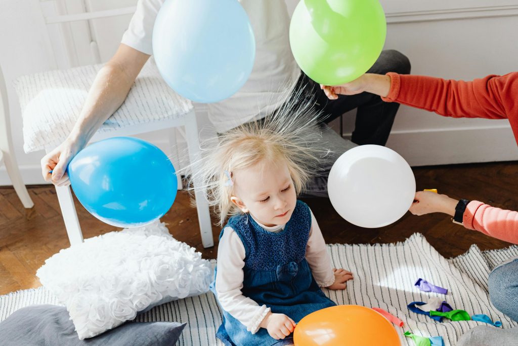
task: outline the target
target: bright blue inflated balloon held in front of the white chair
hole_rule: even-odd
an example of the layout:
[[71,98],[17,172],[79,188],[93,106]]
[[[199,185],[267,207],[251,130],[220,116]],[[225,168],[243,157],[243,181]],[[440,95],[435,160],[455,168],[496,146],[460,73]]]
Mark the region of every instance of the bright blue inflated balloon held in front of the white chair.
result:
[[93,143],[79,151],[67,170],[79,202],[109,225],[149,224],[175,201],[175,168],[162,150],[140,139]]

